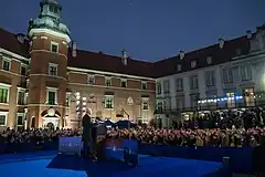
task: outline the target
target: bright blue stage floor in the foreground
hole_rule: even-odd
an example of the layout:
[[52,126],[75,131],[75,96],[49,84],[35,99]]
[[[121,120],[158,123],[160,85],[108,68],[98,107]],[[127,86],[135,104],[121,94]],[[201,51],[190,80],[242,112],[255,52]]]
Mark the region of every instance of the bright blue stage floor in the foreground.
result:
[[0,156],[1,177],[203,177],[216,176],[221,163],[140,156],[140,167],[121,163],[92,163],[78,156],[38,152]]

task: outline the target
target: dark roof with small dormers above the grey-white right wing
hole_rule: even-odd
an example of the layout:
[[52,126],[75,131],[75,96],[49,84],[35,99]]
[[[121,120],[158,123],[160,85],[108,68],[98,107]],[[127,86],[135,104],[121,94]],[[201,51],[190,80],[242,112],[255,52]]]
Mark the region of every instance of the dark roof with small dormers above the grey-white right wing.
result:
[[[219,44],[213,44],[203,49],[199,49],[184,54],[184,58],[180,60],[180,56],[172,56],[166,60],[158,61],[155,64],[155,77],[162,77],[177,73],[183,73],[200,67],[206,67],[225,62],[230,62],[232,58],[239,55],[245,55],[250,52],[250,40],[246,35],[236,38],[230,41],[224,41],[224,45],[220,49]],[[211,58],[212,63],[209,64],[206,59]],[[195,61],[197,66],[191,67],[191,62]],[[178,65],[181,65],[181,71],[178,71]]]

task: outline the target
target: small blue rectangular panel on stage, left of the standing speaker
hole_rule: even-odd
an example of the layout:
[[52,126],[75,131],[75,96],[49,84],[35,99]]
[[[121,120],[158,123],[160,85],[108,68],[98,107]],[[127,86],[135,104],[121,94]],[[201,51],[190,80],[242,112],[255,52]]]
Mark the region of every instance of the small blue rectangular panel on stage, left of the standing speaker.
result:
[[81,154],[83,147],[81,137],[60,137],[59,153]]

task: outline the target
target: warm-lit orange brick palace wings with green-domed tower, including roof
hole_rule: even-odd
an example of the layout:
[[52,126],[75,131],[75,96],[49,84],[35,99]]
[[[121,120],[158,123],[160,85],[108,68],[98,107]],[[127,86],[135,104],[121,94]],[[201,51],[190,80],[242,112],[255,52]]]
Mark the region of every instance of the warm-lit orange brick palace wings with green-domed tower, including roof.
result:
[[148,123],[153,117],[152,63],[77,49],[62,7],[42,0],[28,34],[0,29],[0,128],[78,127],[93,116]]

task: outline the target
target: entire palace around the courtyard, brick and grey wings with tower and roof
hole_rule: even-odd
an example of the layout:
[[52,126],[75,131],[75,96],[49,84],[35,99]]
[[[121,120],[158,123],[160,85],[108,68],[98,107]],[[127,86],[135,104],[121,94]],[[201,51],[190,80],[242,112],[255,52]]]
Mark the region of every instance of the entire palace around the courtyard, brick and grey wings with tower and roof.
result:
[[80,127],[94,117],[167,127],[210,111],[265,105],[265,25],[155,63],[77,49],[62,7],[42,0],[28,34],[0,29],[0,128]]

